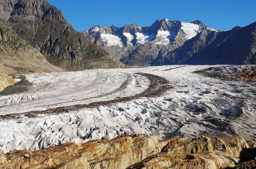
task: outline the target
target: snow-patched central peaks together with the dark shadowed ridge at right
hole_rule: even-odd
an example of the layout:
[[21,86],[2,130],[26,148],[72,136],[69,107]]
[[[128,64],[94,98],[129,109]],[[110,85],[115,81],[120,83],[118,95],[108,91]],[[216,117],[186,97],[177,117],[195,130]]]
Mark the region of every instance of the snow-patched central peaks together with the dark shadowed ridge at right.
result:
[[165,18],[150,27],[96,25],[82,34],[130,66],[256,64],[256,23],[219,31]]

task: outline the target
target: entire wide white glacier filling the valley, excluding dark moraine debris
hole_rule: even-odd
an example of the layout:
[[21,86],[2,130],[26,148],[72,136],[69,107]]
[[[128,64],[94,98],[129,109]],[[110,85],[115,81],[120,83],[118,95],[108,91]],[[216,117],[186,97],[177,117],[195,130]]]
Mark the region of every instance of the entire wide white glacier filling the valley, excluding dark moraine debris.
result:
[[[27,74],[28,91],[0,96],[0,149],[37,150],[121,133],[185,138],[205,132],[256,136],[256,83],[223,81],[194,71],[231,76],[249,66],[161,66]],[[220,67],[220,68],[219,68]],[[141,74],[137,74],[141,73]],[[140,95],[152,74],[169,81],[163,95]],[[155,77],[156,77],[155,76]],[[116,100],[109,105],[100,101]],[[95,104],[86,108],[82,105]],[[78,107],[62,112],[62,107]],[[100,105],[100,106],[99,106]],[[44,111],[58,109],[58,112]],[[33,111],[33,112],[31,112]],[[29,113],[28,113],[29,112]]]

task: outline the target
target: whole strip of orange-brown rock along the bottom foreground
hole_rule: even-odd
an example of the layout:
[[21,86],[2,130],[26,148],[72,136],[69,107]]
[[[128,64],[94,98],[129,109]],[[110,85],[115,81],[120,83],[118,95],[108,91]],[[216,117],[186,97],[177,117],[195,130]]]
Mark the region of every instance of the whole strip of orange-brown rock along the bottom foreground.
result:
[[[38,151],[0,152],[1,168],[225,168],[239,167],[243,151],[253,145],[241,137],[202,135],[125,136],[84,144],[65,143]],[[249,149],[251,148],[251,149]],[[254,147],[255,148],[255,147]],[[253,153],[252,153],[253,156]],[[252,157],[251,156],[251,157]],[[255,154],[254,154],[255,156]],[[238,165],[237,165],[238,164]],[[237,166],[236,166],[237,165]],[[253,163],[250,165],[254,167]]]

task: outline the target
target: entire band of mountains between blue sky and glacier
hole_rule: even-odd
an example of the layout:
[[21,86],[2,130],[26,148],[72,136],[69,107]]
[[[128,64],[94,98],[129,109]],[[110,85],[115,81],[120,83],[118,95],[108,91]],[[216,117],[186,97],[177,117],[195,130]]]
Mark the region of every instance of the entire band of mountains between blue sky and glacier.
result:
[[1,0],[0,32],[0,71],[7,74],[126,65],[256,64],[256,23],[224,32],[199,20],[158,19],[150,27],[96,25],[81,33],[45,0]]

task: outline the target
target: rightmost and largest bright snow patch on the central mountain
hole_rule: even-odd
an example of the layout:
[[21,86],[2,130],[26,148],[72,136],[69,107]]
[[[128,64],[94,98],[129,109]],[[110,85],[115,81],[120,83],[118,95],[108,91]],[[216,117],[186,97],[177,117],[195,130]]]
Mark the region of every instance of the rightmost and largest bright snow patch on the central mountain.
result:
[[192,37],[196,36],[198,33],[202,32],[199,25],[192,24],[192,23],[184,23],[182,22],[182,27],[185,33],[185,38],[191,39]]

